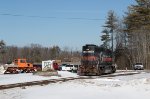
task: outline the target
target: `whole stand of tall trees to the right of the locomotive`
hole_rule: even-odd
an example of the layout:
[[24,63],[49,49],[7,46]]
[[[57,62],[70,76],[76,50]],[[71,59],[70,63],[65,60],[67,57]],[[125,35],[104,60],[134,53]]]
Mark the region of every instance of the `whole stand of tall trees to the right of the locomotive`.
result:
[[123,18],[109,11],[103,26],[102,46],[112,49],[118,68],[143,63],[150,69],[150,0],[135,0]]

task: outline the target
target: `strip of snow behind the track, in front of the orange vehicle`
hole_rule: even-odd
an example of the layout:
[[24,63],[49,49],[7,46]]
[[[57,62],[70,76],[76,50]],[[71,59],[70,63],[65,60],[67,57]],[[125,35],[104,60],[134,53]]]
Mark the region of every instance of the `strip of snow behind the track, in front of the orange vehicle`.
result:
[[0,85],[77,76],[75,73],[71,73],[71,72],[67,72],[67,71],[58,71],[58,74],[60,74],[61,77],[58,77],[58,76],[44,77],[44,76],[33,75],[32,73],[0,74]]

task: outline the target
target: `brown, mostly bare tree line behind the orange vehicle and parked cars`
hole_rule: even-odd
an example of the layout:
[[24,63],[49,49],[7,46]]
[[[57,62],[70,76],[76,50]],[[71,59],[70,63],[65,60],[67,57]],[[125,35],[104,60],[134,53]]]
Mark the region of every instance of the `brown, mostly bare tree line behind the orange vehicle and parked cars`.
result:
[[0,46],[3,46],[0,63],[11,63],[17,58],[26,58],[32,63],[41,63],[43,60],[61,60],[62,62],[71,62],[79,61],[81,55],[81,52],[72,51],[68,47],[61,49],[59,46],[42,47],[39,44],[17,47],[6,46],[5,43]]

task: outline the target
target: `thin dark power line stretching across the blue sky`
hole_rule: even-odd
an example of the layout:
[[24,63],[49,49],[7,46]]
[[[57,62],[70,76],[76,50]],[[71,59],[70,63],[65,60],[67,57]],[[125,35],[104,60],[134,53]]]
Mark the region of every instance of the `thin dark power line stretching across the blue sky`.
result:
[[36,16],[36,15],[22,15],[22,14],[10,14],[10,13],[0,13],[1,16],[13,16],[13,17],[30,17],[30,18],[47,18],[47,19],[67,19],[67,20],[91,20],[91,21],[99,21],[105,19],[98,18],[81,18],[81,17],[70,17],[70,18],[60,18],[60,17],[50,17],[50,16]]

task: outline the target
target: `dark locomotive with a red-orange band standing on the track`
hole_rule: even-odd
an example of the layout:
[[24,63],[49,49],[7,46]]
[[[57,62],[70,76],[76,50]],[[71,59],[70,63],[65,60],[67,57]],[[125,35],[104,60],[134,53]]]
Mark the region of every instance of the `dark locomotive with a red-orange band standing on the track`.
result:
[[115,65],[112,64],[112,52],[109,49],[87,44],[82,47],[81,66],[78,75],[101,75],[114,73]]

